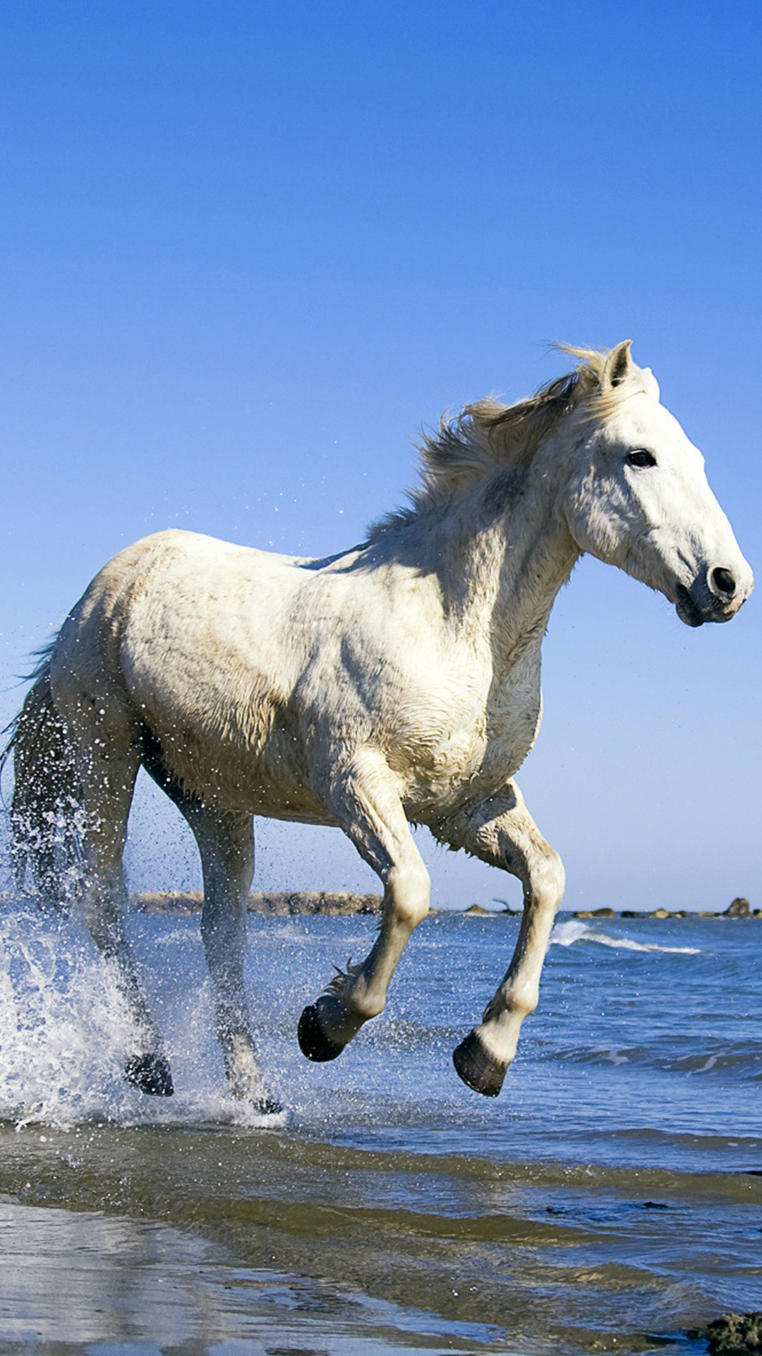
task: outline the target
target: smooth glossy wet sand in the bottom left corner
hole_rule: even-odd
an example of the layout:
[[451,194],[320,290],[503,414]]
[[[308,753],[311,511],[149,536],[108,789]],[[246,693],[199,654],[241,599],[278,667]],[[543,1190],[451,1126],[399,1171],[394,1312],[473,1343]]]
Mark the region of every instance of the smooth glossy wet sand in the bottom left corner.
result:
[[[423,1319],[423,1315],[422,1315]],[[0,1204],[4,1356],[399,1356],[441,1349],[395,1306],[233,1265],[167,1224]],[[423,1328],[426,1328],[423,1319]],[[437,1325],[428,1325],[435,1328]],[[409,1330],[409,1342],[403,1329]],[[461,1351],[447,1341],[447,1351]]]

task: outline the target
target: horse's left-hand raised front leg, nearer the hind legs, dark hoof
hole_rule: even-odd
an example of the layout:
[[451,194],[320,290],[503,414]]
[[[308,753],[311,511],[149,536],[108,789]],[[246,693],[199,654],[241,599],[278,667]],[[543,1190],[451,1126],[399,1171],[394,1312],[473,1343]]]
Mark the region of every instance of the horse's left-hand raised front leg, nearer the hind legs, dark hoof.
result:
[[384,1010],[397,961],[414,928],[428,913],[431,888],[395,778],[380,754],[355,754],[332,782],[331,807],[361,857],[378,875],[384,906],[366,959],[338,971],[325,993],[301,1014],[301,1051],[317,1062],[340,1055],[363,1022]]

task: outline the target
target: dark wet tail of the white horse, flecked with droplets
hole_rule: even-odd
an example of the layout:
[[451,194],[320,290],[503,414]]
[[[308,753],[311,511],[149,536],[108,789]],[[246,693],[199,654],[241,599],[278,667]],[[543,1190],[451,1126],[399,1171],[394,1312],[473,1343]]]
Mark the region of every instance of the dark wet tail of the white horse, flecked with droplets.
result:
[[30,687],[18,716],[4,734],[0,773],[14,755],[11,797],[11,864],[16,887],[31,879],[49,904],[65,907],[66,879],[77,856],[77,807],[81,788],[66,724],[56,711],[50,687],[53,640],[30,674]]

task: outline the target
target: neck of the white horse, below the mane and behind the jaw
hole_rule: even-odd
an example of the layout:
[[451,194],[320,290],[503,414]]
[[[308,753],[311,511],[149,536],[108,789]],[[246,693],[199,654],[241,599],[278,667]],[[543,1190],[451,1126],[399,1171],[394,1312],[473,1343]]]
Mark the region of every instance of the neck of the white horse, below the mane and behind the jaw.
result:
[[453,498],[430,546],[445,614],[462,639],[489,645],[498,673],[540,645],[556,594],[579,559],[557,503],[552,461],[537,454]]

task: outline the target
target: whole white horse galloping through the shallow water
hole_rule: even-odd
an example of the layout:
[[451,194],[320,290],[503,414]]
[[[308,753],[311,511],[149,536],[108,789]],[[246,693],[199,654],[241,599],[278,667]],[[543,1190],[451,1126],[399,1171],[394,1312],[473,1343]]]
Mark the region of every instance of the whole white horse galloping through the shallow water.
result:
[[369,956],[302,1013],[315,1060],[382,1010],[426,917],[411,822],[518,876],[514,956],[453,1056],[469,1088],[500,1090],[564,885],[513,781],[540,725],[540,647],[559,589],[588,552],[659,590],[689,626],[728,621],[753,589],[702,457],[629,342],[568,351],[575,370],[532,399],[442,422],[411,507],[363,545],[305,560],[157,533],[100,571],[45,654],[9,743],[16,872],[23,881],[28,862],[52,899],[75,881],[137,1020],[126,1075],[144,1092],[169,1094],[172,1079],[125,930],[122,849],[141,765],[198,842],[235,1094],[273,1105],[243,983],[252,815],[338,824],[384,885]]

